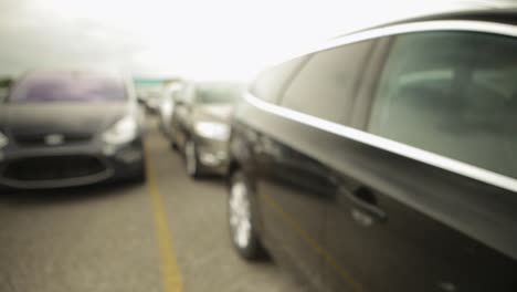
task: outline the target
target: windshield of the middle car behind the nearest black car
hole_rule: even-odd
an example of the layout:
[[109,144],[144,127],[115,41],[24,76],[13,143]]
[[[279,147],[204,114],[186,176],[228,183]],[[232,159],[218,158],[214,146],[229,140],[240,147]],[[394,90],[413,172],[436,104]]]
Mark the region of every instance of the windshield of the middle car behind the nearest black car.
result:
[[196,98],[199,103],[233,103],[239,97],[241,87],[233,84],[203,83],[196,86]]

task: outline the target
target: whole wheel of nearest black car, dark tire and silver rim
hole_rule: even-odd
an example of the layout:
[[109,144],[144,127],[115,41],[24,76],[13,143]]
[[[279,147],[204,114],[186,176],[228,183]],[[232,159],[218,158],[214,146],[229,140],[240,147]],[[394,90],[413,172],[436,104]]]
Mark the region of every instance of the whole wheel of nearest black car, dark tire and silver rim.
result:
[[231,175],[229,192],[228,223],[233,247],[247,261],[264,258],[266,252],[254,226],[253,190],[242,171]]

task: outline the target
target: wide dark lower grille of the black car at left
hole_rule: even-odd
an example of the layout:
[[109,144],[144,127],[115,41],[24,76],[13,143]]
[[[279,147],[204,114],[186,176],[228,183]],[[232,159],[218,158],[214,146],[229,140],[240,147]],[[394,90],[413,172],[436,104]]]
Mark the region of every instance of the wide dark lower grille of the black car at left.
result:
[[32,157],[9,163],[3,177],[13,180],[52,180],[87,177],[105,170],[105,165],[92,156]]

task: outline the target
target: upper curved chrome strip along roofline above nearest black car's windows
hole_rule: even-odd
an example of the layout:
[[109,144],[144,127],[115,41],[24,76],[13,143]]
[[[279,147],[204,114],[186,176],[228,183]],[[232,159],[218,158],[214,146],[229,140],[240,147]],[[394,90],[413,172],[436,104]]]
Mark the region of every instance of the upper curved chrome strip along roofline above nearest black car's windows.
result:
[[351,32],[349,34],[338,36],[337,39],[327,41],[323,44],[309,46],[308,50],[303,50],[302,52],[292,54],[291,58],[284,59],[282,62],[272,64],[271,66],[279,65],[286,61],[317,53],[323,50],[334,49],[344,44],[349,44],[354,42],[368,41],[382,36],[390,36],[401,33],[410,32],[424,32],[424,31],[437,31],[437,30],[447,30],[447,31],[474,31],[474,32],[486,32],[495,34],[504,34],[517,38],[517,28],[511,24],[504,23],[494,23],[478,20],[430,20],[430,21],[420,21],[412,23],[401,23],[393,24],[384,28],[377,28],[365,30],[360,32]]

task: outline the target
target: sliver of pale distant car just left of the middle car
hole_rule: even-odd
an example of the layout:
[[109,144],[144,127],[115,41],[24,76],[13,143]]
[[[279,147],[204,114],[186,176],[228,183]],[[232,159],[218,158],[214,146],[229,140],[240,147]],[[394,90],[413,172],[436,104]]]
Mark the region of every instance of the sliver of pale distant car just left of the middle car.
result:
[[159,106],[159,127],[163,135],[168,138],[172,138],[172,115],[175,113],[175,104],[178,96],[181,94],[184,85],[181,82],[172,83],[163,90],[161,95],[161,103]]

